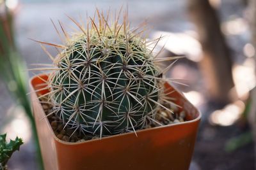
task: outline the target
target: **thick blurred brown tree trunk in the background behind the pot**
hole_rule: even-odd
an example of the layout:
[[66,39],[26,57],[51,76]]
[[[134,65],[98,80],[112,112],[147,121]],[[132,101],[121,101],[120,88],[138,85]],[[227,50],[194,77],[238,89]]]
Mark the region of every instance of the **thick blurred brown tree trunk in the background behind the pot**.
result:
[[207,0],[188,0],[188,11],[204,53],[199,66],[207,85],[208,97],[217,103],[228,103],[231,101],[230,89],[234,87],[232,60],[218,15]]

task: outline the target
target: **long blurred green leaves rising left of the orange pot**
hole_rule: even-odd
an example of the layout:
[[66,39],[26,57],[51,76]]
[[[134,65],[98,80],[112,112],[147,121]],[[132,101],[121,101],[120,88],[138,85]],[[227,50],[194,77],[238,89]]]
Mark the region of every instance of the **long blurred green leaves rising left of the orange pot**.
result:
[[15,45],[12,12],[6,8],[5,3],[0,3],[1,5],[4,5],[4,8],[0,8],[4,9],[4,11],[0,11],[0,76],[4,80],[6,87],[8,87],[10,94],[24,108],[26,115],[29,117],[35,139],[39,167],[44,169],[35,120],[27,95],[28,73],[26,72],[26,64]]

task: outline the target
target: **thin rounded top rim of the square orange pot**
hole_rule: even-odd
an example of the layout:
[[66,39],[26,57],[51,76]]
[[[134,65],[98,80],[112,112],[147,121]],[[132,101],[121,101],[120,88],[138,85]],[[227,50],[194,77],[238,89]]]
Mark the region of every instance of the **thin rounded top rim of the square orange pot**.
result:
[[[33,92],[31,93],[35,93],[35,90],[34,90],[34,87],[32,85],[32,80],[36,77],[41,77],[43,75],[47,75],[47,73],[40,73],[40,74],[35,74],[34,76],[32,76],[31,78],[29,78],[29,87],[30,89],[33,90]],[[173,87],[173,89],[175,89]],[[176,90],[176,89],[175,89]],[[184,97],[183,94],[181,94],[178,90],[176,90],[181,96]],[[37,95],[36,95],[37,96]],[[189,104],[191,104],[190,101],[188,101],[188,99],[186,99],[186,97],[184,97],[185,101],[188,102]],[[36,102],[36,103],[40,103],[38,97],[36,97],[36,100],[35,101],[32,101],[33,102]],[[191,104],[193,105],[193,104]],[[194,106],[194,105],[193,105]],[[43,108],[42,108],[42,104],[40,104],[40,110],[44,112]],[[198,110],[196,108],[196,111],[198,111],[198,116],[196,118],[194,118],[193,120],[188,120],[188,121],[185,121],[185,122],[180,122],[180,123],[176,123],[176,124],[169,124],[169,125],[162,125],[162,126],[159,126],[159,127],[151,127],[151,128],[148,128],[148,129],[141,129],[141,130],[138,130],[136,131],[136,134],[140,134],[141,132],[147,132],[147,131],[154,131],[155,129],[162,129],[162,128],[166,128],[166,127],[172,127],[172,126],[177,126],[177,125],[183,125],[183,124],[191,124],[193,122],[198,122],[201,118],[202,118],[202,113],[200,110]],[[45,114],[45,112],[44,112]],[[45,115],[46,116],[46,115]],[[42,118],[42,120],[44,120],[45,118],[47,117],[44,117]],[[42,121],[40,120],[40,121]],[[72,143],[72,142],[67,142],[67,141],[62,141],[61,139],[57,138],[57,136],[54,134],[54,132],[52,131],[52,127],[50,125],[50,122],[49,120],[47,119],[47,126],[51,129],[51,134],[52,136],[54,136],[54,139],[56,141],[58,141],[59,143],[62,143],[63,145],[81,145],[83,143],[92,143],[92,142],[95,142],[95,141],[102,141],[102,140],[105,140],[105,139],[109,139],[109,138],[118,138],[120,136],[125,136],[125,135],[130,135],[130,134],[134,134],[136,136],[136,134],[134,132],[126,132],[124,134],[114,134],[114,135],[111,135],[111,136],[106,136],[106,137],[103,137],[103,138],[97,138],[97,139],[90,139],[90,140],[87,140],[87,141],[83,141],[83,142],[76,142],[76,143]]]

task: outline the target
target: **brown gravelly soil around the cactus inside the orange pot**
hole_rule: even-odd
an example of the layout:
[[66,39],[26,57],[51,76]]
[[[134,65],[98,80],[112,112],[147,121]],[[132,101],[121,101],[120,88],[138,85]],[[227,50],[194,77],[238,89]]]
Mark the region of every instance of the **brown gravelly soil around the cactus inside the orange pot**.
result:
[[[76,131],[69,125],[66,126],[60,119],[60,115],[58,114],[58,112],[54,113],[54,110],[52,109],[52,103],[51,101],[49,101],[49,96],[39,97],[39,99],[42,104],[42,108],[44,109],[45,115],[47,115],[49,123],[51,124],[52,131],[54,132],[57,138],[72,143],[101,138],[101,136],[84,134],[81,131]],[[177,106],[174,106],[173,103],[167,103],[165,101],[162,101],[161,104],[166,108],[170,108],[170,110],[172,110],[172,113],[170,113],[170,111],[165,110],[164,108],[159,107],[156,111],[156,117],[154,119],[154,122],[151,120],[147,120],[147,125],[145,125],[143,129],[159,127],[159,124],[169,125],[179,124],[180,122],[186,122],[186,113],[184,111],[179,111]]]

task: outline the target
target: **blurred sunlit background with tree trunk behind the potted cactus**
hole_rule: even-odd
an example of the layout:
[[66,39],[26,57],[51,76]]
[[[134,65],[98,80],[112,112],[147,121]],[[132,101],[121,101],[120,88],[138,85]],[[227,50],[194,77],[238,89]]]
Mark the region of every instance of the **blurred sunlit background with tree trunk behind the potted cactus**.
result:
[[[0,0],[0,16],[3,4]],[[124,6],[132,27],[147,22],[148,38],[164,36],[156,48],[157,52],[165,45],[161,57],[186,56],[166,76],[186,84],[173,83],[202,113],[190,169],[255,169],[255,0],[6,0],[5,5],[13,18],[17,51],[28,68],[51,63],[29,38],[61,43],[51,19],[72,30],[67,15],[79,20],[93,16],[95,7],[107,12]],[[0,24],[4,25],[3,18]],[[47,50],[53,56],[57,53]],[[29,71],[30,77],[33,74]],[[24,139],[8,166],[38,169],[29,118],[10,95],[13,88],[13,81],[0,79],[0,133]]]

